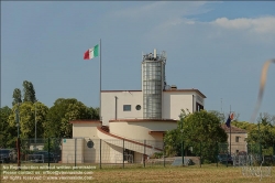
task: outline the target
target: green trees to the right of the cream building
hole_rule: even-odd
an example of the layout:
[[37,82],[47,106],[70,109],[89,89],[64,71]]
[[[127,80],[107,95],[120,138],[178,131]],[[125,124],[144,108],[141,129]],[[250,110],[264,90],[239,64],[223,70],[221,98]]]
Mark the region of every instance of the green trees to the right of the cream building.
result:
[[[272,154],[275,148],[275,116],[260,114],[257,120],[257,123],[234,120],[231,125],[246,130],[248,143],[261,143],[262,153]],[[189,153],[201,155],[207,162],[215,162],[219,152],[228,151],[228,144],[221,146],[228,142],[222,123],[224,120],[217,111],[200,110],[190,114],[183,110],[177,129],[165,134],[165,154],[174,157]]]

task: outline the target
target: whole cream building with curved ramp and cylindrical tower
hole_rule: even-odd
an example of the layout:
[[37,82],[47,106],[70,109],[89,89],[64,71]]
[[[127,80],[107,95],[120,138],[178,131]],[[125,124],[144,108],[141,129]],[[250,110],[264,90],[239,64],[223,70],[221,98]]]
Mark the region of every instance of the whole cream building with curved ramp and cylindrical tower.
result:
[[163,136],[177,127],[182,109],[204,109],[206,98],[167,85],[165,65],[166,53],[154,50],[143,55],[141,90],[102,90],[101,120],[72,121],[74,139],[63,140],[62,161],[136,162],[163,151]]

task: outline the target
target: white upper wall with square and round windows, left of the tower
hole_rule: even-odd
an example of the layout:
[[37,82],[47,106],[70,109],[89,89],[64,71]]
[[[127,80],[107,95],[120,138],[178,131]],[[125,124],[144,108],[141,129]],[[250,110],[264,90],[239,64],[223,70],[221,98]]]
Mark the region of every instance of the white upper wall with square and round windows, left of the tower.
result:
[[[134,119],[143,117],[142,92],[102,92],[101,93],[101,116],[102,125],[109,125],[110,119],[116,118],[116,98],[117,100],[117,118]],[[123,111],[123,105],[131,105],[131,111]],[[135,106],[141,105],[141,110],[136,110]]]

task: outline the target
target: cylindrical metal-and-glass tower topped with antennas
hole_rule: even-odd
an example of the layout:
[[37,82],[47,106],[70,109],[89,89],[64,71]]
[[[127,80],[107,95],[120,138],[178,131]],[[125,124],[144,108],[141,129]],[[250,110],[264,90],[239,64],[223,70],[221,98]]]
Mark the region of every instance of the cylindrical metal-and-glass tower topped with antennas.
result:
[[162,96],[165,83],[166,54],[143,55],[142,61],[142,92],[143,92],[143,118],[162,119]]

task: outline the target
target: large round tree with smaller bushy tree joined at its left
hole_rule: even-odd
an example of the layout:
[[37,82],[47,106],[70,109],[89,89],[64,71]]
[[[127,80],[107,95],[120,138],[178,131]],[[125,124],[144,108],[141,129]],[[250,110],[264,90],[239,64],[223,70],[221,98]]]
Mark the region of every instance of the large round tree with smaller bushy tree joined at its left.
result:
[[[183,110],[178,127],[165,134],[167,148],[176,146],[177,151],[184,140],[185,152],[193,148],[193,154],[204,160],[215,161],[217,142],[227,142],[228,134],[221,128],[221,121],[213,112],[206,110],[186,114]],[[170,142],[173,142],[170,144]],[[209,151],[211,149],[211,151]],[[180,154],[177,152],[177,154]]]

